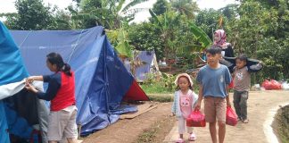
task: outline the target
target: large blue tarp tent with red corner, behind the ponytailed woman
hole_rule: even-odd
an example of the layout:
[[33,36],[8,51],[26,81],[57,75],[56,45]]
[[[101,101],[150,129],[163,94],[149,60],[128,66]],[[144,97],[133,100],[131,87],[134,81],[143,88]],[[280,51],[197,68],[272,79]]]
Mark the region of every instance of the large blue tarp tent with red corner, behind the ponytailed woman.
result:
[[[51,74],[45,55],[60,53],[75,71],[77,123],[81,133],[101,130],[119,119],[122,100],[148,100],[120,62],[103,27],[82,30],[11,30],[29,74]],[[112,111],[118,111],[118,114]]]

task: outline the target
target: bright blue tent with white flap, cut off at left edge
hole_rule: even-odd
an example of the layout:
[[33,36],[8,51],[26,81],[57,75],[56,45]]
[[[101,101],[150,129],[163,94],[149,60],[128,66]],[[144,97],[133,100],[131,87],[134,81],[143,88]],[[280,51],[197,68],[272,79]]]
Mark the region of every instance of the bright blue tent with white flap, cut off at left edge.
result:
[[39,124],[38,100],[23,89],[23,79],[28,76],[18,47],[13,42],[9,30],[0,22],[1,143],[10,142],[9,134],[29,139],[32,125]]

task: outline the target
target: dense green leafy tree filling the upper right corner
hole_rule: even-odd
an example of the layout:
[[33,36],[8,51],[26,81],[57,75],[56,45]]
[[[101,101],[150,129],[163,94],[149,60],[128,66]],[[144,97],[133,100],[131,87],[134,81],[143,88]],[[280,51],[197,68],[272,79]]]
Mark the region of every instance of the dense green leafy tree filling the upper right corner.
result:
[[245,53],[262,60],[266,66],[262,78],[289,79],[288,52],[288,3],[277,0],[242,1],[238,10],[239,18],[229,22],[235,36],[235,52]]

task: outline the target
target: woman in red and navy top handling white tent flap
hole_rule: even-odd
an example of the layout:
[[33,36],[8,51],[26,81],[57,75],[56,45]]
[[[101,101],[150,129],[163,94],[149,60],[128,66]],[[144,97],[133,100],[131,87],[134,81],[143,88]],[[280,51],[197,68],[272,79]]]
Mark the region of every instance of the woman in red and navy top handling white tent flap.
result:
[[[62,139],[67,139],[69,143],[74,143],[78,138],[74,72],[57,53],[46,55],[46,66],[50,71],[54,71],[54,74],[30,76],[26,80],[26,88],[35,93],[38,98],[51,101],[48,117],[48,142],[57,143]],[[35,88],[31,84],[34,80],[48,82],[46,92]]]

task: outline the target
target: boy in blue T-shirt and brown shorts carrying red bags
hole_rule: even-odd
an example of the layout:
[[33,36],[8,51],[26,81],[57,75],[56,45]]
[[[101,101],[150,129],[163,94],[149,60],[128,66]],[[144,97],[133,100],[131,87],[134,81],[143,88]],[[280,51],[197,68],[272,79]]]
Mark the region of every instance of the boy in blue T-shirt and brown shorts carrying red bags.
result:
[[195,109],[199,110],[201,108],[202,98],[204,98],[204,114],[206,122],[209,122],[213,143],[217,143],[217,121],[219,143],[224,142],[227,106],[231,106],[228,96],[228,84],[232,78],[227,66],[219,63],[219,59],[222,57],[221,51],[222,49],[219,47],[211,47],[206,50],[208,64],[200,69],[196,78],[200,89]]

